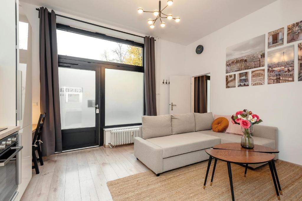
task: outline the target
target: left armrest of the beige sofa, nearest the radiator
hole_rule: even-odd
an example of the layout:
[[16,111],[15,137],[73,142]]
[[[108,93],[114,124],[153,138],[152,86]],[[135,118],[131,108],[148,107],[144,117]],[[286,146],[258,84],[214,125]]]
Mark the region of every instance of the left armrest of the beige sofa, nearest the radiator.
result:
[[134,138],[134,155],[155,174],[162,173],[163,159],[162,148],[144,140],[141,137]]

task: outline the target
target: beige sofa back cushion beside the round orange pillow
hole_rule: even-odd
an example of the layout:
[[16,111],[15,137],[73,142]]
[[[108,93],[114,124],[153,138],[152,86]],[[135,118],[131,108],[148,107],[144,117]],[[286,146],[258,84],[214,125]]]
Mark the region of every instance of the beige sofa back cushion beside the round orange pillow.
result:
[[212,112],[208,113],[194,113],[195,117],[195,130],[211,130],[214,121]]

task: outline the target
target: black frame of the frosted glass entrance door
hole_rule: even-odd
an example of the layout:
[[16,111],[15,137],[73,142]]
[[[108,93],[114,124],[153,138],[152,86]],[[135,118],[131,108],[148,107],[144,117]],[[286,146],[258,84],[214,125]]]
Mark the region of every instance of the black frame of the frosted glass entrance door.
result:
[[[99,80],[99,68],[94,66],[86,66],[82,64],[67,64],[64,62],[58,62],[59,68],[69,68],[69,69],[79,69],[79,70],[86,70],[86,71],[95,71],[95,104],[99,104],[100,102],[100,80]],[[97,108],[95,108],[96,110]],[[69,151],[74,149],[81,149],[81,148],[88,148],[93,146],[98,146],[100,143],[100,115],[99,113],[95,113],[95,127],[82,127],[82,128],[70,128],[70,129],[61,129],[62,135],[65,133],[72,133],[72,132],[84,132],[84,131],[92,131],[95,130],[95,143],[93,144],[85,144],[85,145],[78,145],[78,146],[69,146],[69,147],[63,147],[63,139],[62,139],[62,149],[63,151]],[[63,137],[62,137],[63,138]],[[81,140],[81,139],[76,139]]]

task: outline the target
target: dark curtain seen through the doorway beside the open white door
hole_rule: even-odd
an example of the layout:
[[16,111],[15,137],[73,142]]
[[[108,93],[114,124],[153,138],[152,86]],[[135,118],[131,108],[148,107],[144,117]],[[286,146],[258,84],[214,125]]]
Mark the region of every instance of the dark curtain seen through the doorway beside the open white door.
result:
[[194,77],[194,112],[207,112],[207,80],[205,75]]

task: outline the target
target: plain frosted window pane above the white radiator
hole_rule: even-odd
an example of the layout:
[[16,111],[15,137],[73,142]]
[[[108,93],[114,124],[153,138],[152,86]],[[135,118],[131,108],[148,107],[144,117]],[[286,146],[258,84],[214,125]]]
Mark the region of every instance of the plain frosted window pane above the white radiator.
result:
[[140,72],[105,69],[105,126],[142,122],[143,77]]

